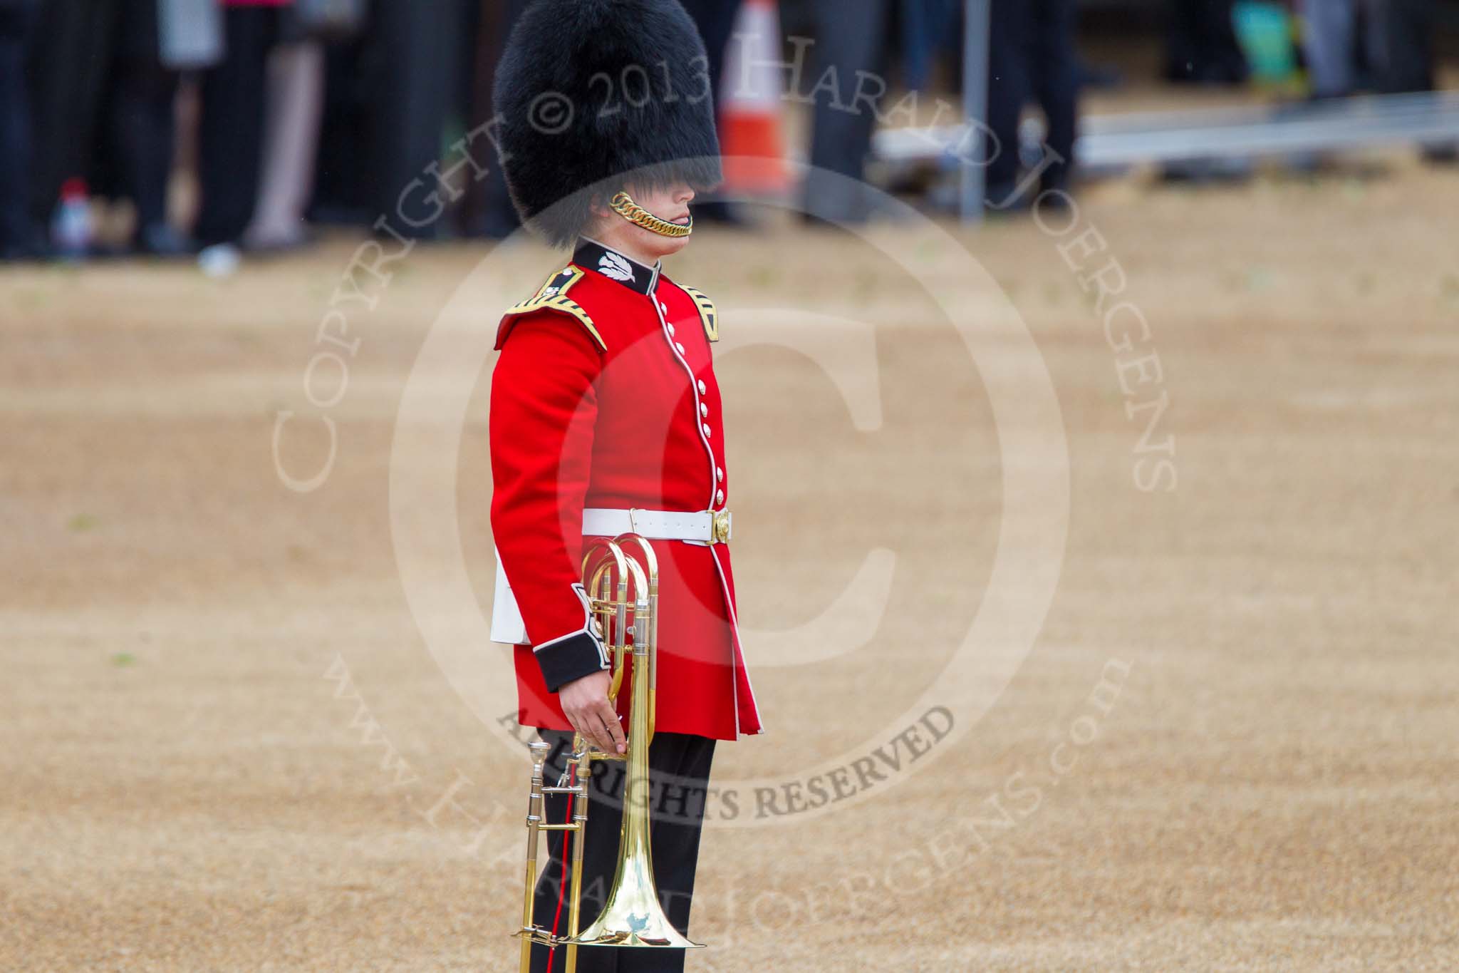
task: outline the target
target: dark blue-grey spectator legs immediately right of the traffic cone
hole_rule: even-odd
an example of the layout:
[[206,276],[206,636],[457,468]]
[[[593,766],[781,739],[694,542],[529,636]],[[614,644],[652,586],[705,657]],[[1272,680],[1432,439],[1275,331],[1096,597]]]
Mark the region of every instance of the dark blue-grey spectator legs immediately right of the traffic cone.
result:
[[[856,71],[878,74],[887,58],[890,7],[887,0],[814,0],[814,66],[805,90],[814,92],[811,171],[805,178],[805,213],[821,220],[864,222],[872,209],[867,191],[867,155],[875,112],[856,104]],[[835,69],[835,71],[832,71]],[[832,174],[832,175],[827,175]],[[843,177],[843,178],[837,178]]]

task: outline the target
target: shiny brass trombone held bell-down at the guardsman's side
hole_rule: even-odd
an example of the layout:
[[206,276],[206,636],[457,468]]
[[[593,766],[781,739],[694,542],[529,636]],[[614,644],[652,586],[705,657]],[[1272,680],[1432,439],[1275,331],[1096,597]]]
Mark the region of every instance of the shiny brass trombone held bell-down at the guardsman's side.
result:
[[[638,547],[638,556],[624,547]],[[527,893],[522,906],[521,973],[530,973],[534,942],[565,947],[566,972],[578,969],[578,947],[642,947],[687,950],[703,944],[683,937],[658,902],[654,884],[654,858],[649,849],[649,775],[648,747],[654,740],[654,699],[658,662],[658,559],[648,540],[638,534],[600,538],[582,559],[582,584],[588,592],[588,611],[601,630],[603,643],[613,654],[613,683],[608,699],[617,700],[623,670],[632,654],[632,699],[629,700],[627,753],[603,753],[582,734],[572,738],[568,772],[556,786],[544,786],[546,743],[530,744],[533,756],[531,795],[527,804]],[[623,780],[623,824],[619,833],[619,861],[603,913],[587,928],[578,928],[582,906],[582,846],[588,827],[588,785],[598,760],[626,760]],[[572,795],[572,821],[543,821],[543,796]],[[572,862],[568,893],[568,935],[537,925],[537,845],[541,831],[569,831]]]

